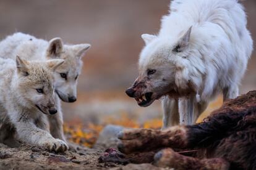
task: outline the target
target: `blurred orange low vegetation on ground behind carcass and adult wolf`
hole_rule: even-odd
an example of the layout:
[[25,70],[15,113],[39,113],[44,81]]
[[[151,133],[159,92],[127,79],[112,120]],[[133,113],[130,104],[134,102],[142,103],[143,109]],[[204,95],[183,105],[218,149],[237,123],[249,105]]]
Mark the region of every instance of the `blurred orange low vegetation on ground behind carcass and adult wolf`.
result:
[[[207,110],[198,118],[197,122],[201,122],[203,118],[208,116],[211,111],[219,108],[222,105],[222,97],[218,97],[214,102],[211,102]],[[127,113],[122,113],[121,118],[106,117],[103,124],[83,124],[79,119],[71,121],[64,124],[64,131],[66,133],[67,139],[75,142],[76,144],[85,145],[86,147],[93,147],[100,131],[107,124],[116,124],[124,127],[132,128],[151,128],[151,129],[160,129],[162,126],[162,119],[149,119],[143,124],[139,124],[137,119],[130,118]]]

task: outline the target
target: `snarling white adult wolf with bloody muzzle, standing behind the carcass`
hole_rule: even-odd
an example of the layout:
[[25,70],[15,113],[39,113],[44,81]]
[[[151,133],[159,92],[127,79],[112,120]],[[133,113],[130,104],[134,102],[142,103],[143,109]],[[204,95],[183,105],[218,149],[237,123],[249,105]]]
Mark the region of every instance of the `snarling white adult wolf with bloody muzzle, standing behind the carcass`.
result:
[[146,46],[139,78],[126,93],[147,107],[163,97],[163,128],[195,123],[217,94],[239,94],[252,54],[244,8],[236,0],[174,0]]

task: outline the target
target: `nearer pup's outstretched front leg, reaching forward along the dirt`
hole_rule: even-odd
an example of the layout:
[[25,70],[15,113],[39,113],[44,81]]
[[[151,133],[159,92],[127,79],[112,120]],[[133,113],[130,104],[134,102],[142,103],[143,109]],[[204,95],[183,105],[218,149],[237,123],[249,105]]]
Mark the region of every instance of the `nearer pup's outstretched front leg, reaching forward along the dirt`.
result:
[[68,149],[66,142],[60,139],[54,139],[48,131],[36,127],[32,121],[20,120],[15,125],[17,137],[22,142],[30,145],[43,146],[55,152],[65,152]]

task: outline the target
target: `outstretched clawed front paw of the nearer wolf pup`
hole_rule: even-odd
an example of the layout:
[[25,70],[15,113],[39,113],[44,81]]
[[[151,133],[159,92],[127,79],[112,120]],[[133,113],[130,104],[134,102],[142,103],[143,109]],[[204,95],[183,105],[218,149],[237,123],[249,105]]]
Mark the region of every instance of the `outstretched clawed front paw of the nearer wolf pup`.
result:
[[66,150],[69,149],[66,142],[60,139],[49,140],[48,142],[45,143],[45,146],[48,148],[50,152],[65,152]]

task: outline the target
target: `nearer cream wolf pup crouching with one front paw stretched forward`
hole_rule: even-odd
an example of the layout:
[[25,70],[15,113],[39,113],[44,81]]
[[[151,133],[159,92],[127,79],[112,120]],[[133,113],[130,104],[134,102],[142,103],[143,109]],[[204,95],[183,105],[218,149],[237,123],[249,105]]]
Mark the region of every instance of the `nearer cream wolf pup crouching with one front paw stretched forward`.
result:
[[[64,152],[68,146],[49,132],[48,115],[58,113],[53,72],[64,60],[28,62],[20,57],[0,59],[0,140],[20,142]],[[8,128],[8,129],[7,129]]]

